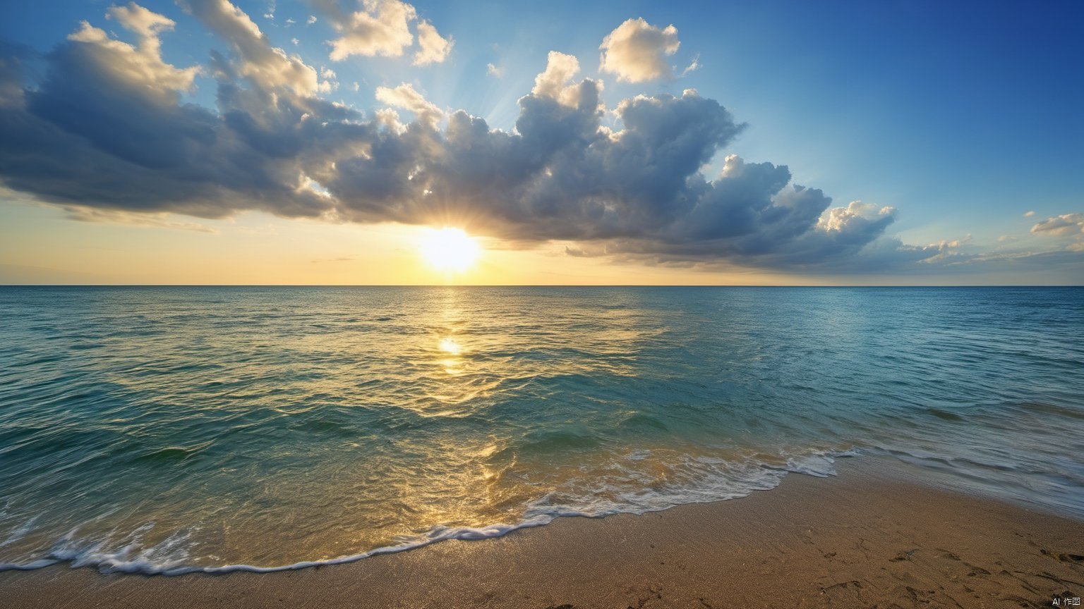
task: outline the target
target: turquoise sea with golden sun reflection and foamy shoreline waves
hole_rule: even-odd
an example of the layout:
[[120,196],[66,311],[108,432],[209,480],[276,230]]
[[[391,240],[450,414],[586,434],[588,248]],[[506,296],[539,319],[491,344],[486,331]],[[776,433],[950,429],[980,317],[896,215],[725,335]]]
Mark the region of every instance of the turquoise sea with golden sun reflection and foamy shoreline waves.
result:
[[354,559],[881,454],[1084,517],[1081,288],[0,288],[0,563]]

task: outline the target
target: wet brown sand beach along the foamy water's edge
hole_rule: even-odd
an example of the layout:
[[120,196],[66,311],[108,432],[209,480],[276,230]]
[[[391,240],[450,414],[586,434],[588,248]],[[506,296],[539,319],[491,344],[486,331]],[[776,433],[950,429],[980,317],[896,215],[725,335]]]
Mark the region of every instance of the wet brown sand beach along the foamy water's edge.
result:
[[838,469],[740,500],[291,572],[9,571],[0,606],[1019,608],[1084,596],[1084,521],[934,488],[887,459]]

